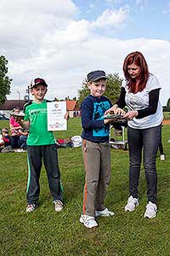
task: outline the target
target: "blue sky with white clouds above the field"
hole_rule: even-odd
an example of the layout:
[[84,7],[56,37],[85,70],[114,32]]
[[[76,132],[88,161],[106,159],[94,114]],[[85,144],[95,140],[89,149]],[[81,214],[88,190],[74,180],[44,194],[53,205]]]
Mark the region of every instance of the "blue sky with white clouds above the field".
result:
[[124,58],[143,53],[170,97],[170,0],[0,0],[0,55],[13,79],[8,99],[23,99],[34,78],[46,98],[78,96],[93,70],[119,73]]

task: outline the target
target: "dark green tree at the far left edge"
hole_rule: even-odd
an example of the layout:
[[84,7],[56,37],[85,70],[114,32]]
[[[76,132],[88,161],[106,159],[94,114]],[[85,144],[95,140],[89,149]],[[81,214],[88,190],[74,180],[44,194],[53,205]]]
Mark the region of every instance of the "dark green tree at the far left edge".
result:
[[0,56],[0,104],[6,101],[6,96],[10,94],[10,84],[12,79],[9,79],[6,75],[8,73],[8,67],[6,67],[8,61],[3,55]]

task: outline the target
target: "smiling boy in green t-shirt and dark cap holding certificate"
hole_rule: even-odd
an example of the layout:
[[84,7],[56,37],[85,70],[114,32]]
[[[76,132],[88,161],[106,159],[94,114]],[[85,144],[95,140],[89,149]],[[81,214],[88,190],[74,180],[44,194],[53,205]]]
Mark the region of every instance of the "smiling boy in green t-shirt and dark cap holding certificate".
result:
[[[29,129],[27,138],[28,154],[28,183],[26,212],[33,212],[37,208],[40,193],[39,177],[42,168],[42,159],[48,175],[48,185],[54,200],[54,209],[60,212],[63,209],[63,196],[60,183],[58,154],[53,131],[48,131],[47,100],[44,96],[48,84],[44,79],[33,79],[31,82],[32,102],[25,105],[24,120],[20,125]],[[65,116],[68,119],[68,116]]]

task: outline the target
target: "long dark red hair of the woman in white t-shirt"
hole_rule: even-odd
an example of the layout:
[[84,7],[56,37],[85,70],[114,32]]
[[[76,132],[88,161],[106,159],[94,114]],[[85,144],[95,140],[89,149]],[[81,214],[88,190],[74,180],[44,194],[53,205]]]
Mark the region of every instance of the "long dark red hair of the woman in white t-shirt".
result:
[[[140,72],[139,72],[139,86],[136,88],[136,79],[132,79],[127,72],[127,66],[135,64],[140,67]],[[128,85],[128,90],[133,93],[137,93],[138,91],[144,90],[146,86],[146,82],[149,77],[149,70],[148,70],[148,65],[147,62],[144,59],[144,55],[142,55],[139,51],[134,51],[127,55],[127,57],[124,60],[122,70],[124,72],[124,76],[127,79],[127,85]]]

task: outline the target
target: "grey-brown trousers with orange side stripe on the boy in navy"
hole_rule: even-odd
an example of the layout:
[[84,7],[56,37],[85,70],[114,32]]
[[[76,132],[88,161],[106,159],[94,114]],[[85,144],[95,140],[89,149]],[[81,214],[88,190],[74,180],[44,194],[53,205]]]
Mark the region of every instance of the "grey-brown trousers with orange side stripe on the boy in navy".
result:
[[82,140],[82,156],[86,178],[83,192],[83,214],[94,216],[105,209],[104,200],[111,179],[109,143]]

